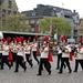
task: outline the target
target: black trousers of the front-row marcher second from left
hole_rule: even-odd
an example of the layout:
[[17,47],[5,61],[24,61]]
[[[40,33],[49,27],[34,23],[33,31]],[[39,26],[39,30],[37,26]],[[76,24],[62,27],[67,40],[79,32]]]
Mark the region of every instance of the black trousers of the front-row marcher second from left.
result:
[[15,58],[15,72],[19,71],[19,64],[20,64],[23,69],[27,68],[27,66],[25,66],[25,63],[23,62],[23,58],[20,56],[20,55],[17,55],[17,58]]

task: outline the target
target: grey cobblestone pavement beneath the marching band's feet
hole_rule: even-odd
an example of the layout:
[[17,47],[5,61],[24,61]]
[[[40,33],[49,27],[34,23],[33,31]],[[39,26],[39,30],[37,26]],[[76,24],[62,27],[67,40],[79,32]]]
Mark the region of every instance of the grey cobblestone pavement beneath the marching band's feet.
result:
[[[58,74],[59,70],[55,70],[56,66],[56,56],[53,56],[54,62],[52,63],[52,74],[48,75],[45,69],[42,71],[41,76],[37,76],[38,64],[33,60],[33,68],[30,68],[29,64],[27,72],[20,66],[18,73],[14,73],[14,65],[11,70],[4,65],[4,70],[0,70],[0,83],[83,83],[83,72],[81,66],[76,73],[72,72],[69,74],[68,68],[63,70],[62,74]],[[74,61],[71,61],[72,71],[74,70]]]

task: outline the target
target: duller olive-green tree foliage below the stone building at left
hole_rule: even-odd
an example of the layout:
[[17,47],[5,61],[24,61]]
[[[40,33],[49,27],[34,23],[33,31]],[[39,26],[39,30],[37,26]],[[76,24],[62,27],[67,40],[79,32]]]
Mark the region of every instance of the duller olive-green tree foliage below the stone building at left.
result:
[[25,23],[25,15],[15,14],[15,15],[7,15],[3,20],[4,23],[2,25],[3,31],[24,31],[30,32],[31,25]]

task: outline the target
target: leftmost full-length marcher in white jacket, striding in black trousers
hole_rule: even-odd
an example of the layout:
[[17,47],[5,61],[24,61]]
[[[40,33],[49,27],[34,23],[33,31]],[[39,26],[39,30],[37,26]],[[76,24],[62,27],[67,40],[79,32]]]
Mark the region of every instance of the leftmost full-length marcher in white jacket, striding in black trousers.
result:
[[9,55],[9,44],[7,41],[4,41],[2,45],[1,70],[3,70],[4,63],[9,66],[9,70],[11,69],[11,65],[9,64],[8,61],[8,55]]

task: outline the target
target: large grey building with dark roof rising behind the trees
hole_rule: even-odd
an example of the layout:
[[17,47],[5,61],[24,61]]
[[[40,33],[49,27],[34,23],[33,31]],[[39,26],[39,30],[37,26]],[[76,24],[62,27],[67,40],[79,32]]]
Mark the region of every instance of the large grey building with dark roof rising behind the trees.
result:
[[80,15],[77,12],[75,12],[75,10],[72,12],[69,9],[38,4],[33,10],[22,11],[21,13],[28,17],[27,23],[32,25],[32,31],[34,31],[35,24],[39,23],[39,19],[42,19],[43,17],[63,17],[66,21],[71,22],[71,25],[73,28],[70,33],[70,38],[74,39],[75,42],[77,42]]

